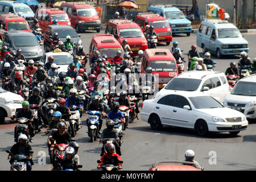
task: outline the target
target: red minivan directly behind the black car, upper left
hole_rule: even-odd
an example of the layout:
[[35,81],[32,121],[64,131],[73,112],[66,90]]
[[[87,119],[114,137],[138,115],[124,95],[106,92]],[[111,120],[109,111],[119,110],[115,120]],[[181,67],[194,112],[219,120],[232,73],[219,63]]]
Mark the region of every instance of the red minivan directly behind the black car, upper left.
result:
[[46,31],[48,25],[57,20],[57,24],[71,25],[67,13],[57,8],[40,8],[36,10],[35,18],[38,19],[42,32]]

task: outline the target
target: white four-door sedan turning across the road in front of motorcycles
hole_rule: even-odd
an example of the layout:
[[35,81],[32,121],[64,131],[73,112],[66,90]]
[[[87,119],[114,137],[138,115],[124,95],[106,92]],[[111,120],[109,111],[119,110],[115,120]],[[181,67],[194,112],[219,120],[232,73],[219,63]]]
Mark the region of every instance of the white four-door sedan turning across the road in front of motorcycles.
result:
[[214,98],[182,91],[144,101],[141,118],[154,130],[163,125],[185,127],[196,130],[201,136],[209,131],[237,135],[248,125],[245,115],[224,107]]

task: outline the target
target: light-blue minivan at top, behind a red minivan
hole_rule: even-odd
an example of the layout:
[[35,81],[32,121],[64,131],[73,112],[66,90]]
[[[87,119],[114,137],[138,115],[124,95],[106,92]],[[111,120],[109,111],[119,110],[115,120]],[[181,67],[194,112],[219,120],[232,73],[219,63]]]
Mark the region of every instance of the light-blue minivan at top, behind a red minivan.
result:
[[191,21],[185,18],[185,15],[172,5],[152,5],[147,12],[164,16],[171,26],[172,34],[184,33],[190,36],[192,32]]

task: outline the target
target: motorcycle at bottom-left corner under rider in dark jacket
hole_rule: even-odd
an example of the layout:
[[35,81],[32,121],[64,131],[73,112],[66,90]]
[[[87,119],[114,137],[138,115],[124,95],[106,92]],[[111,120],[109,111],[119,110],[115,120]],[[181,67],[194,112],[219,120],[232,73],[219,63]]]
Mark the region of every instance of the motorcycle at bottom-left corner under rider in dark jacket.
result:
[[[10,150],[6,150],[8,154],[11,154]],[[31,151],[32,152],[32,151]],[[11,154],[13,155],[13,154]],[[11,171],[27,171],[26,160],[28,157],[26,155],[13,155],[11,156]]]

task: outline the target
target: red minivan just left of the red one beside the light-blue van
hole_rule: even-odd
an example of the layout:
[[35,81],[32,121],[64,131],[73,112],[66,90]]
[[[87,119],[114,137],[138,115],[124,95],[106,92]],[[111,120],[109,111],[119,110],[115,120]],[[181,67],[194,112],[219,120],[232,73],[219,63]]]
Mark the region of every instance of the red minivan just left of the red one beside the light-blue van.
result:
[[131,51],[131,56],[137,56],[139,50],[146,50],[147,39],[138,24],[125,19],[110,19],[106,26],[105,34],[112,34],[120,44],[126,39]]

